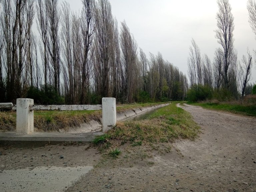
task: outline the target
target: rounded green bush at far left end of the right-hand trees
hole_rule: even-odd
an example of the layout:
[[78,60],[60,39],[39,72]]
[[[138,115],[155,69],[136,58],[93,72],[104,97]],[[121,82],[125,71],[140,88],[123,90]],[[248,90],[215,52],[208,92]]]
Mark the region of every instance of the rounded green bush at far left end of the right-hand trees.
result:
[[212,99],[212,89],[208,85],[192,85],[187,92],[187,99],[193,102]]

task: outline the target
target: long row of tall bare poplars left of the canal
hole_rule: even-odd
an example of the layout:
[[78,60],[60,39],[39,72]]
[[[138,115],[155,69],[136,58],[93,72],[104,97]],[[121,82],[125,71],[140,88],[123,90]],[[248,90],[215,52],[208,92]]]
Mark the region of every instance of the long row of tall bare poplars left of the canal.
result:
[[76,13],[65,1],[0,0],[0,102],[31,88],[53,89],[66,104],[185,97],[186,76],[161,53],[148,59],[108,0],[82,4]]

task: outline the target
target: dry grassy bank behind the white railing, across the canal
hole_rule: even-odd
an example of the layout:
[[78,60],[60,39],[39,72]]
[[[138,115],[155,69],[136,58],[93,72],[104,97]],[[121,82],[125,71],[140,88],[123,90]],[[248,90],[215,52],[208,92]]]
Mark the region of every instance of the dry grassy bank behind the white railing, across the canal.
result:
[[[154,106],[162,103],[126,104],[117,106],[119,113],[133,108]],[[102,111],[34,111],[34,127],[38,131],[59,131],[68,127],[79,127],[91,120],[101,123]],[[0,112],[0,130],[16,130],[16,112]]]

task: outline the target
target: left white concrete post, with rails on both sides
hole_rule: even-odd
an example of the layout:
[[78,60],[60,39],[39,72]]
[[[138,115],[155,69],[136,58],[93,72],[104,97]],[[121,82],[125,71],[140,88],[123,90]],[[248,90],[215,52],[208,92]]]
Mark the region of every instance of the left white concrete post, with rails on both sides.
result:
[[16,133],[29,134],[34,132],[34,111],[30,111],[30,107],[34,105],[34,100],[17,99],[16,101]]

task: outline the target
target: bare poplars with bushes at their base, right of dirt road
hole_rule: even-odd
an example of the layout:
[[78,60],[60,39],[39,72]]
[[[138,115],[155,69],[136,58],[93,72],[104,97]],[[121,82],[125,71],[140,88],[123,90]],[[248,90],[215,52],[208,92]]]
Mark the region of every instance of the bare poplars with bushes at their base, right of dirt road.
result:
[[[250,94],[252,84],[251,69],[253,59],[249,48],[242,60],[237,58],[234,47],[234,17],[228,0],[217,0],[218,12],[216,15],[217,29],[215,38],[220,47],[214,52],[214,59],[201,54],[195,40],[191,40],[189,57],[187,59],[190,90],[190,100],[205,100],[216,98],[219,100],[239,99],[245,94]],[[256,3],[248,0],[249,24],[256,35]],[[253,51],[254,57],[256,56]],[[256,58],[256,57],[255,57]]]

